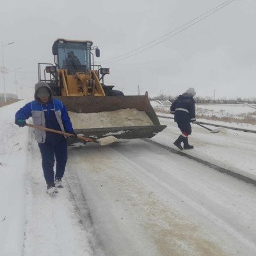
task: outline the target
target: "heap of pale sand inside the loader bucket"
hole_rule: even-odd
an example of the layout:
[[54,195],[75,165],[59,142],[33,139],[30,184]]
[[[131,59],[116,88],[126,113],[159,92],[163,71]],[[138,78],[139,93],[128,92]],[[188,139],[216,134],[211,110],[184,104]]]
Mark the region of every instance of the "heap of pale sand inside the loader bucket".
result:
[[100,113],[74,113],[68,111],[74,129],[154,125],[145,111],[120,109]]

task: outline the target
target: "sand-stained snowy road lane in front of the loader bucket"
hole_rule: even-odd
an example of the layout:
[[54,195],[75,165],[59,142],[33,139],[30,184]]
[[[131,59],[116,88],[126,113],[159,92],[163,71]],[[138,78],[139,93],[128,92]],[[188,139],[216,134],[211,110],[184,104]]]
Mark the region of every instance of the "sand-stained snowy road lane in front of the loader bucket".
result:
[[69,156],[106,255],[255,255],[255,186],[143,140]]

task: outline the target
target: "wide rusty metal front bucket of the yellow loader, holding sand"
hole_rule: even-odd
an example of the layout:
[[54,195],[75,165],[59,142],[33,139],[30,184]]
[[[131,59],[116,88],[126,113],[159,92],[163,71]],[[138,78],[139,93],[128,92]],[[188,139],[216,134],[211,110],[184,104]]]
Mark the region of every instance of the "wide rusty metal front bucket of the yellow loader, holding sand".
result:
[[[157,132],[163,131],[166,125],[161,125],[154,109],[150,105],[148,95],[142,96],[102,96],[102,97],[56,97],[63,102],[68,111],[75,113],[99,113],[120,109],[136,108],[145,111],[153,125],[101,127],[90,129],[75,129],[77,134],[91,138],[104,138],[113,135],[118,139],[152,138]],[[74,139],[70,139],[74,141]]]

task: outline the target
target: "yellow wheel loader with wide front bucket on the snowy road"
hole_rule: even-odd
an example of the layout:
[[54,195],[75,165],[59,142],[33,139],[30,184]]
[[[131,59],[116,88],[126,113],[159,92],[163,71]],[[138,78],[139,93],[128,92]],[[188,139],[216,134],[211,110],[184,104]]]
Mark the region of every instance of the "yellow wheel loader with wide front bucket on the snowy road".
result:
[[[114,86],[104,84],[104,76],[109,68],[95,65],[94,55],[100,56],[100,50],[88,40],[57,39],[52,45],[54,64],[38,63],[38,81],[49,84],[52,95],[60,99],[68,109],[68,113],[97,114],[118,113],[122,109],[144,111],[150,119],[150,125],[118,125],[102,124],[100,127],[74,126],[77,134],[88,138],[104,138],[113,135],[118,139],[152,138],[157,132],[163,131],[166,125],[160,125],[150,101],[145,95],[125,96],[114,90]],[[119,114],[116,114],[119,115]],[[79,115],[76,124],[79,124]],[[116,116],[118,118],[118,116]],[[74,139],[68,140],[75,142]]]

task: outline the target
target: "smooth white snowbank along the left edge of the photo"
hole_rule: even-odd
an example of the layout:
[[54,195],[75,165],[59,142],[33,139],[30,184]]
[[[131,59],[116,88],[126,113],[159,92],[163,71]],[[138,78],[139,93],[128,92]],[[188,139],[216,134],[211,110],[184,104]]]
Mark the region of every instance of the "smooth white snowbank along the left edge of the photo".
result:
[[0,108],[0,255],[22,255],[25,225],[28,129],[14,124],[24,101]]

